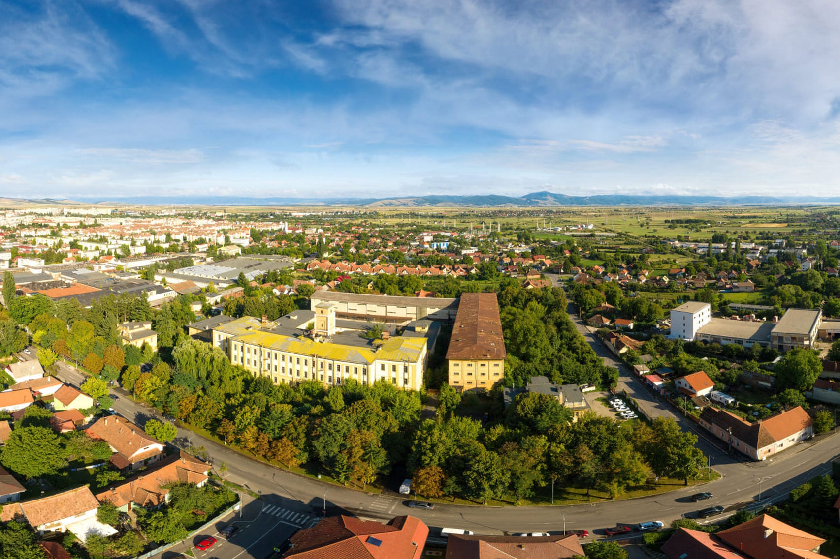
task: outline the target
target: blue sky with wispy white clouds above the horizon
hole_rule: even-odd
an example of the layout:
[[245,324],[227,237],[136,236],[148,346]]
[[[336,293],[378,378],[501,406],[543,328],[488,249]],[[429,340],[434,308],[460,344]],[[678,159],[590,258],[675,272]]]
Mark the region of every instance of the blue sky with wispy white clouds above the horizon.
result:
[[836,0],[0,0],[0,196],[840,195]]

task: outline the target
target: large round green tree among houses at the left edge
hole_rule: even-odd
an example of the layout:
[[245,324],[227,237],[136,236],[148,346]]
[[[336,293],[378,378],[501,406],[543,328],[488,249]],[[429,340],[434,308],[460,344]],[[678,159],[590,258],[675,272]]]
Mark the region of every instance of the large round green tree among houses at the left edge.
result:
[[59,437],[52,429],[39,426],[13,430],[3,447],[0,462],[27,479],[58,473],[67,465]]

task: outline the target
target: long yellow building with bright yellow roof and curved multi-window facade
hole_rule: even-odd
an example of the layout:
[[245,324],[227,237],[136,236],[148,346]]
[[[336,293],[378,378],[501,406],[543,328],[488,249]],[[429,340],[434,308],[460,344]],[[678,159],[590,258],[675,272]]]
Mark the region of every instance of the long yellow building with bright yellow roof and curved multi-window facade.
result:
[[423,387],[428,353],[425,337],[391,337],[349,345],[284,336],[268,331],[269,326],[252,317],[228,322],[213,329],[213,345],[221,348],[231,363],[255,376],[267,376],[275,384],[318,380],[333,386],[354,379],[366,385],[383,380],[402,389]]

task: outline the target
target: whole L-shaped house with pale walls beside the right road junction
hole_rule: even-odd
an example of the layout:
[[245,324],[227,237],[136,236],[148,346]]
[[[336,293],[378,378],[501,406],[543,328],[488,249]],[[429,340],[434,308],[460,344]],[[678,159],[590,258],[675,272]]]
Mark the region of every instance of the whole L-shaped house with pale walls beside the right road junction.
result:
[[814,434],[814,421],[801,406],[755,423],[709,406],[701,413],[699,422],[712,435],[753,460],[764,460]]

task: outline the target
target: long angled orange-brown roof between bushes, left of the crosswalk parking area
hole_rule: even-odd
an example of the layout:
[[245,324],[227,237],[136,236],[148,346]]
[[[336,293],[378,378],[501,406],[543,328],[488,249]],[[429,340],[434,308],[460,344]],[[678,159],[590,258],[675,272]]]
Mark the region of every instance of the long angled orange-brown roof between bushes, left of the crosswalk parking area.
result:
[[169,493],[164,485],[176,482],[202,483],[207,479],[209,469],[208,464],[181,452],[180,456],[167,458],[144,473],[105,489],[97,494],[97,499],[100,503],[111,501],[118,507],[128,503],[157,506],[163,504],[165,495]]

